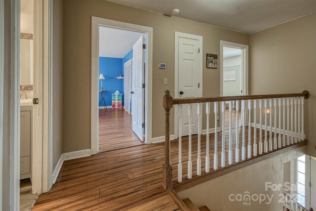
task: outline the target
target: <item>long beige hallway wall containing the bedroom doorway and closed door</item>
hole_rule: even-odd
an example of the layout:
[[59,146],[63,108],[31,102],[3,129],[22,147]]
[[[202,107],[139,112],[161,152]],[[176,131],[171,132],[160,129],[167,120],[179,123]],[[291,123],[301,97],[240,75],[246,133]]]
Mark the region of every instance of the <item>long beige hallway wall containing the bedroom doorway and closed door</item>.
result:
[[[91,16],[153,27],[153,137],[164,135],[162,96],[174,96],[174,32],[203,37],[203,96],[220,93],[220,65],[206,69],[205,54],[220,54],[220,40],[248,44],[249,35],[105,0],[64,0],[63,152],[90,148]],[[167,69],[159,70],[158,63]],[[163,84],[163,79],[168,84]],[[174,114],[171,112],[171,134]],[[214,123],[213,123],[214,124]],[[205,125],[205,118],[204,118]]]

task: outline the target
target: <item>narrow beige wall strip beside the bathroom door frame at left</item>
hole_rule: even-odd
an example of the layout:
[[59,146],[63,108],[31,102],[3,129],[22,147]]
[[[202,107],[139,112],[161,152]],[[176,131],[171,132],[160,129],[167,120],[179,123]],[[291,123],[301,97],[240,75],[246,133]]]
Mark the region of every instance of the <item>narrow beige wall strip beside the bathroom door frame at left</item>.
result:
[[63,139],[63,1],[53,1],[53,169],[62,154]]

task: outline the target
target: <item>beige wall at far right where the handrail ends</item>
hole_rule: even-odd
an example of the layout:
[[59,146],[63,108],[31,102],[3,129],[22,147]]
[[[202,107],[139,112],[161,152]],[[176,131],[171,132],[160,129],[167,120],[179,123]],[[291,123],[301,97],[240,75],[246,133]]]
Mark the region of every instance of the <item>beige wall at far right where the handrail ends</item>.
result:
[[249,94],[308,90],[305,133],[308,154],[316,156],[316,14],[250,35]]

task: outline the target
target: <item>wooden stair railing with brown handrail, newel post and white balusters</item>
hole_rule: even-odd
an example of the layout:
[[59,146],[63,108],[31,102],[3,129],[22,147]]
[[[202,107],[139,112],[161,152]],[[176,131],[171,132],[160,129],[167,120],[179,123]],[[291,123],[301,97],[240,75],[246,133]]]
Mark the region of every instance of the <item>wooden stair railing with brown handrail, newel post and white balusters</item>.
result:
[[[197,175],[201,175],[201,132],[202,132],[202,106],[205,104],[206,116],[206,149],[205,149],[205,167],[203,170],[209,172],[211,168],[218,169],[218,163],[222,168],[226,167],[225,149],[225,133],[228,132],[229,147],[228,147],[228,165],[233,165],[233,157],[235,155],[235,163],[251,159],[259,155],[264,155],[270,151],[295,144],[305,139],[304,132],[304,99],[309,97],[308,91],[302,93],[291,94],[266,94],[266,95],[242,95],[242,96],[227,96],[227,97],[196,97],[196,98],[178,98],[173,99],[170,91],[166,90],[163,96],[163,108],[165,110],[165,156],[163,163],[163,186],[168,189],[172,187],[172,165],[170,160],[170,110],[173,105],[178,106],[178,166],[177,180],[182,182],[182,124],[184,112],[187,113],[186,119],[188,133],[188,162],[187,162],[187,178],[191,179],[192,172],[192,121],[197,116]],[[229,127],[226,131],[225,127],[225,112],[226,104],[228,103],[229,112]],[[221,108],[220,110],[218,108]],[[211,108],[213,111],[211,111]],[[259,108],[259,109],[258,109]],[[241,112],[242,137],[239,140],[239,109]],[[247,111],[248,110],[248,111]],[[193,112],[197,113],[194,114]],[[209,128],[210,114],[214,112],[214,128]],[[248,125],[245,125],[246,112],[248,112]],[[222,116],[222,140],[219,140],[218,133],[218,114]],[[233,140],[232,114],[236,114],[235,140]],[[251,119],[251,115],[253,119]],[[278,114],[278,115],[277,115]],[[258,117],[259,115],[259,121]],[[262,117],[264,115],[264,118]],[[269,124],[268,124],[268,116]],[[264,119],[264,122],[263,122]],[[272,122],[274,119],[274,124]],[[253,120],[253,123],[251,123]],[[196,127],[196,126],[195,126]],[[246,140],[245,127],[248,127],[248,140]],[[219,127],[220,128],[220,127]],[[257,139],[257,129],[259,129],[259,140]],[[264,136],[263,136],[264,131]],[[268,136],[269,131],[269,136]],[[210,133],[214,132],[214,148],[210,152]],[[252,136],[253,134],[253,136]],[[274,134],[274,136],[273,136]],[[176,137],[175,137],[176,138]],[[221,141],[220,155],[221,160],[218,160],[218,142]],[[235,141],[235,143],[233,143]],[[247,143],[246,143],[247,141]],[[253,143],[253,144],[252,144]],[[239,147],[241,145],[241,150]],[[235,145],[235,149],[233,149]],[[241,151],[241,152],[240,152]],[[210,154],[211,153],[211,154]],[[241,154],[241,157],[239,156]],[[210,163],[213,158],[213,164]]]

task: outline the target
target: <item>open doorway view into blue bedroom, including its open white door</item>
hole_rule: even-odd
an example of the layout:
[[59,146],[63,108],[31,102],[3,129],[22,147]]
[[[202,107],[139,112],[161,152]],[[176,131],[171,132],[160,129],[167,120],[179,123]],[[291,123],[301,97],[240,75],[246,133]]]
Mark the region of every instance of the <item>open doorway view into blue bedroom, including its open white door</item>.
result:
[[146,34],[99,28],[99,152],[144,143]]

